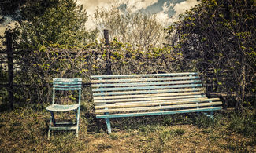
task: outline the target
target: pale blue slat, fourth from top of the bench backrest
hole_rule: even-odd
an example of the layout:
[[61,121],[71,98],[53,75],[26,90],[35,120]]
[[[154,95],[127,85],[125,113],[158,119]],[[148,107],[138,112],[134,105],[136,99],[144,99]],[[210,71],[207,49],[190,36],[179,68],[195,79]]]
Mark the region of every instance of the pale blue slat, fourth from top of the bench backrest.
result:
[[187,87],[200,87],[202,84],[185,84],[185,85],[172,85],[172,86],[137,86],[137,87],[126,87],[126,88],[97,88],[92,89],[95,91],[125,91],[125,90],[134,90],[134,89],[171,89],[171,88],[187,88]]

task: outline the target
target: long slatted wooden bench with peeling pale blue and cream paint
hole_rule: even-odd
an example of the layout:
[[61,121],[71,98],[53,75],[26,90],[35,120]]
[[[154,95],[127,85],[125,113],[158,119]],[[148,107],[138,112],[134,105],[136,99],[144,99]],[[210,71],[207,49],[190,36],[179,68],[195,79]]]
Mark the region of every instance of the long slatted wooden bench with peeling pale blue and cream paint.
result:
[[195,72],[151,75],[92,75],[96,118],[170,115],[220,110],[219,98],[207,98]]

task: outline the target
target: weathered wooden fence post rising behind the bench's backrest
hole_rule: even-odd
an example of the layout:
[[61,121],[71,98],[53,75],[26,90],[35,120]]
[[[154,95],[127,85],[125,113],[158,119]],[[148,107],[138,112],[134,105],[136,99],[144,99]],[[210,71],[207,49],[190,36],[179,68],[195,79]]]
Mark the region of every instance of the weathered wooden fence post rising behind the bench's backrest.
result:
[[106,75],[112,75],[112,71],[111,71],[111,64],[110,64],[110,53],[109,53],[109,30],[104,29],[104,39],[105,39],[105,44],[107,47],[107,53],[106,53]]

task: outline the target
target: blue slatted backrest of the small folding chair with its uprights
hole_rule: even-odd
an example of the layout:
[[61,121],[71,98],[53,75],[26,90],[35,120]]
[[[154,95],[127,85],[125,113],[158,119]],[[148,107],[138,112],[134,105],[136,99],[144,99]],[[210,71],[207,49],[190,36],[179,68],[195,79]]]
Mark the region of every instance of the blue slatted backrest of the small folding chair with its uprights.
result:
[[82,78],[54,78],[53,82],[53,104],[55,102],[55,91],[79,91],[79,100],[81,100]]

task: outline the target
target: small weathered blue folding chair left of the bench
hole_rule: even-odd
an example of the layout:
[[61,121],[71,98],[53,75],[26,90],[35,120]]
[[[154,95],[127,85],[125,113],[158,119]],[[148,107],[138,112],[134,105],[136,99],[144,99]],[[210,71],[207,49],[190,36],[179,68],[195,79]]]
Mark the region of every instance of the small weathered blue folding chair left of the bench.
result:
[[[50,111],[50,126],[48,131],[48,138],[50,138],[51,130],[76,130],[76,137],[78,137],[79,130],[79,118],[80,118],[80,101],[81,101],[81,89],[82,89],[82,78],[54,78],[53,83],[53,101],[52,104],[46,107],[47,111]],[[57,104],[57,99],[61,99],[69,94],[69,102],[75,100],[76,104]],[[76,94],[76,97],[72,97]],[[78,97],[77,97],[78,94]],[[77,100],[78,99],[78,100]],[[77,102],[78,101],[78,102]],[[63,103],[63,102],[62,102]],[[76,122],[56,122],[54,113],[56,112],[69,112],[75,111]]]

